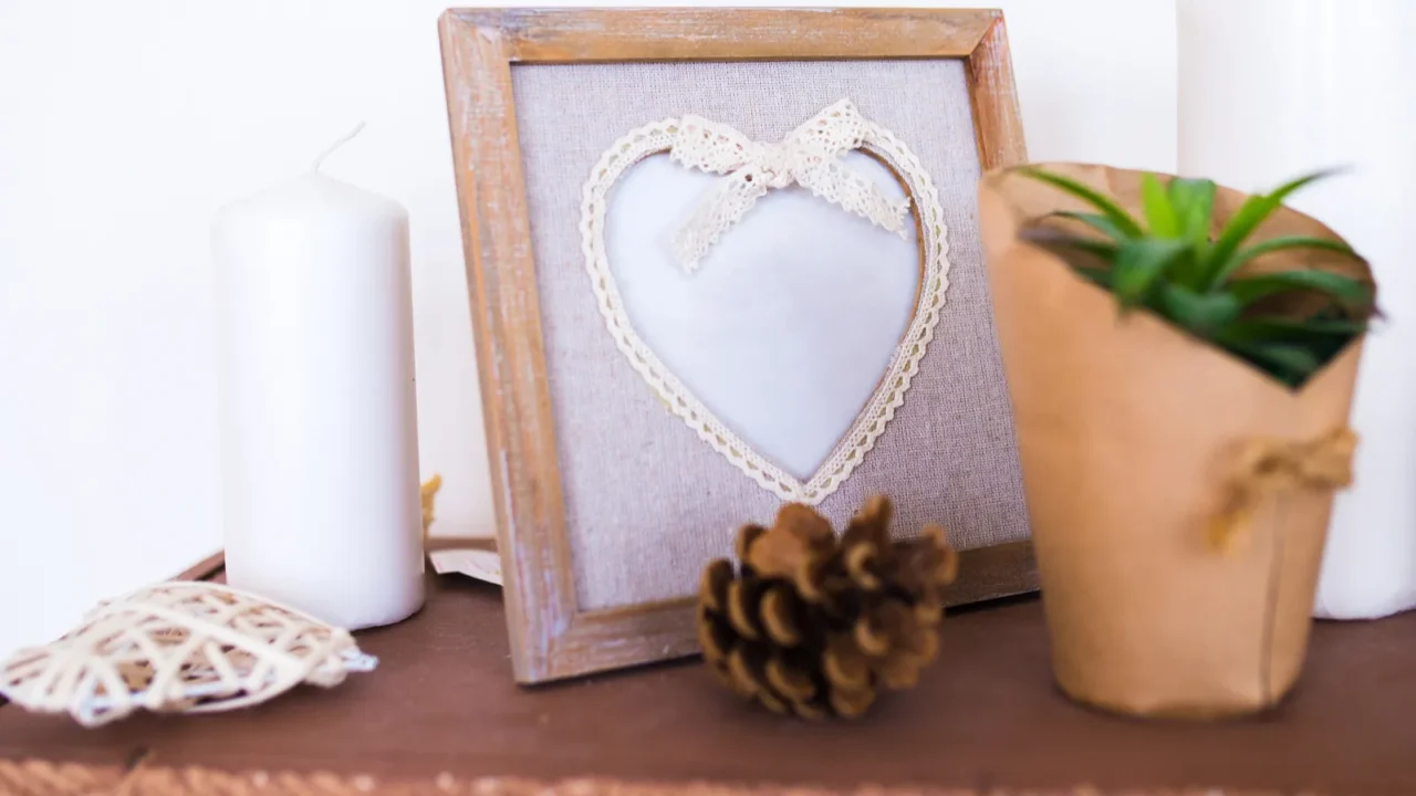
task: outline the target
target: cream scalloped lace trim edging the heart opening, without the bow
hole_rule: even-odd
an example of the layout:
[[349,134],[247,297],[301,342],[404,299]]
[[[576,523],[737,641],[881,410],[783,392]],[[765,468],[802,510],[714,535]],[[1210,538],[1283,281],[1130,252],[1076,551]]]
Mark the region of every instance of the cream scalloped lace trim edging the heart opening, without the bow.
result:
[[929,341],[933,340],[935,324],[939,322],[944,292],[949,288],[947,229],[943,208],[939,205],[939,191],[919,164],[919,159],[903,142],[879,125],[868,123],[862,149],[884,159],[901,176],[920,218],[925,268],[920,275],[919,300],[879,387],[837,442],[831,456],[817,467],[816,474],[801,482],[753,450],[664,367],[630,324],[615,276],[610,273],[605,254],[605,215],[610,188],[630,166],[651,154],[667,152],[674,143],[678,125],[680,119],[664,119],[630,130],[600,156],[585,183],[581,203],[581,248],[600,314],[630,365],[664,405],[698,433],[700,439],[777,497],[816,506],[835,491],[875,448],[875,440],[885,433],[885,428],[895,418],[895,409],[905,404],[905,392],[919,373],[919,363]]

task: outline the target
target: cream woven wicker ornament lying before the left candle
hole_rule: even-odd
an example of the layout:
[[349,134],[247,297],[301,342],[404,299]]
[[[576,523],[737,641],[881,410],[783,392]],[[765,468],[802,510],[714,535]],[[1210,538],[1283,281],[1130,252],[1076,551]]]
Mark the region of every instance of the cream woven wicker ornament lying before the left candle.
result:
[[154,712],[215,712],[370,671],[347,630],[205,582],[166,582],[101,603],[59,640],[0,664],[0,695],[85,727]]

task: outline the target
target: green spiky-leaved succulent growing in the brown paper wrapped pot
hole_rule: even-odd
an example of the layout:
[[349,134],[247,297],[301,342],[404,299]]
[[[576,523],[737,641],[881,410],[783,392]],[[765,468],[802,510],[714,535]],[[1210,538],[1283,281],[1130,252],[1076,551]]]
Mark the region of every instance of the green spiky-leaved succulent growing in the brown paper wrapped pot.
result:
[[[1255,259],[1280,251],[1338,252],[1361,258],[1348,244],[1307,235],[1250,242],[1255,231],[1294,191],[1331,171],[1317,171],[1270,193],[1253,194],[1215,231],[1215,183],[1146,174],[1143,218],[1114,198],[1070,177],[1039,167],[1018,173],[1051,184],[1095,212],[1055,212],[1078,224],[1079,234],[1056,235],[1049,248],[1065,251],[1079,275],[1116,296],[1121,312],[1144,309],[1298,387],[1366,330],[1375,312],[1374,289],[1331,271],[1246,271]],[[1042,238],[1039,238],[1042,239]],[[1294,312],[1294,295],[1317,296]]]

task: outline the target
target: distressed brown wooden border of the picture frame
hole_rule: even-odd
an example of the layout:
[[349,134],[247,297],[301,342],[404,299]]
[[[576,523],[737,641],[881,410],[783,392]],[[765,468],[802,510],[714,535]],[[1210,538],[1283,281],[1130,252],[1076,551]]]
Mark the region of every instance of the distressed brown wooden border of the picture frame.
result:
[[[1003,13],[455,8],[439,30],[515,677],[538,683],[692,654],[691,601],[576,603],[511,65],[960,58],[987,170],[1027,161]],[[954,603],[1035,582],[1029,542],[966,551]]]

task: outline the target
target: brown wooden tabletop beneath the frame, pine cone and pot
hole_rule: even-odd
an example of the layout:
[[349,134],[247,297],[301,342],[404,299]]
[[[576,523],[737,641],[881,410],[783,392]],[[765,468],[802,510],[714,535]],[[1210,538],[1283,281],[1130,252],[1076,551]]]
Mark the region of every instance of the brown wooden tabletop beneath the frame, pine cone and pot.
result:
[[1035,599],[959,612],[943,639],[916,690],[852,722],[753,708],[697,660],[525,688],[511,680],[498,589],[447,576],[415,618],[360,635],[381,664],[337,688],[91,731],[8,705],[0,761],[370,775],[361,786],[527,778],[561,783],[559,793],[588,792],[565,788],[576,778],[620,783],[617,792],[704,782],[714,788],[692,792],[1416,792],[1416,613],[1320,623],[1286,704],[1216,724],[1143,722],[1070,704],[1052,684]]

